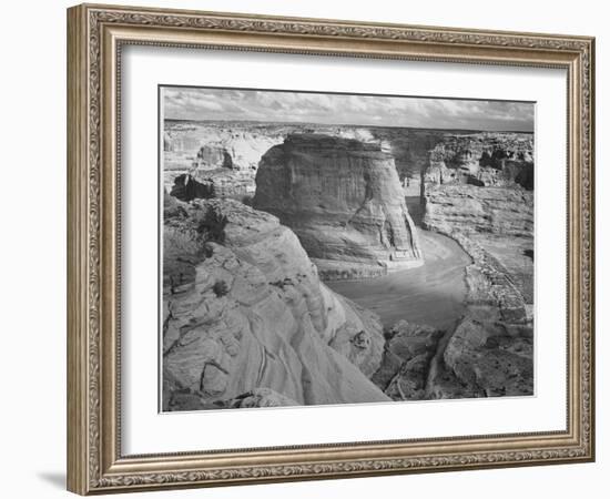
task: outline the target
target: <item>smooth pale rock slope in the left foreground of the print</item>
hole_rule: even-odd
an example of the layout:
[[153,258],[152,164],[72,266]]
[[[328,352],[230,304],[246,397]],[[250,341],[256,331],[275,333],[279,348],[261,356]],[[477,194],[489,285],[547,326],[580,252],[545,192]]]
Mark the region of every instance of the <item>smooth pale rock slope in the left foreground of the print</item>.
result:
[[322,284],[275,216],[166,195],[163,248],[165,410],[251,404],[261,388],[276,405],[387,400],[368,379],[378,318]]

